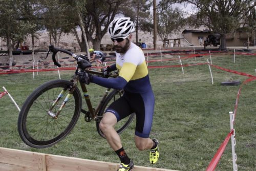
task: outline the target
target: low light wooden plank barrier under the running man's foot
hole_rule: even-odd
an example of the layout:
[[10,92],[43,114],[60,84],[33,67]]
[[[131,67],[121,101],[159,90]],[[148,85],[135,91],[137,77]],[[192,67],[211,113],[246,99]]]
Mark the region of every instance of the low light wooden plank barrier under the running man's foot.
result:
[[[116,171],[117,163],[86,160],[0,147],[1,171]],[[133,171],[174,171],[135,166]]]

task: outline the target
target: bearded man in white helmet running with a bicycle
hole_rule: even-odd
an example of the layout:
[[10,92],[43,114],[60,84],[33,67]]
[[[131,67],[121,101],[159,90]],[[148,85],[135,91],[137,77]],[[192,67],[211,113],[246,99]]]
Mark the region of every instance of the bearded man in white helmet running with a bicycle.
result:
[[99,124],[106,140],[118,155],[121,164],[118,171],[131,170],[133,161],[127,156],[121,144],[119,135],[114,129],[115,124],[136,113],[135,144],[142,151],[150,149],[150,162],[156,163],[159,158],[158,140],[150,139],[155,97],[152,91],[145,56],[141,48],[132,41],[132,32],[135,27],[130,18],[120,17],[114,19],[108,28],[111,40],[116,51],[116,63],[108,67],[105,72],[118,70],[116,78],[102,78],[88,73],[80,73],[80,81],[89,84],[113,89],[123,89],[121,98],[114,101],[106,109]]

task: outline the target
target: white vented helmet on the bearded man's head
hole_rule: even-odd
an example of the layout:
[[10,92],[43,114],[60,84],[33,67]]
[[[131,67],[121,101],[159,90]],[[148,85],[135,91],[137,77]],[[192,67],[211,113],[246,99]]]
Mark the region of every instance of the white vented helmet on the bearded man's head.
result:
[[108,28],[111,38],[127,37],[135,31],[135,26],[130,17],[121,17],[114,19]]

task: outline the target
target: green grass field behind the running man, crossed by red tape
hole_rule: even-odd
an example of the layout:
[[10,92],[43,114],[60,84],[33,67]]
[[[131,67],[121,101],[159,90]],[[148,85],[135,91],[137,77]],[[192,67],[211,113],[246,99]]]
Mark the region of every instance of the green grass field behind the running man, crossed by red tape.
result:
[[[176,58],[177,56],[175,56]],[[212,55],[212,64],[226,69],[256,75],[256,56],[237,55],[233,63],[231,55]],[[206,62],[209,56],[182,60],[183,65]],[[156,58],[154,58],[156,59]],[[179,65],[178,60],[152,62],[149,66]],[[222,81],[241,80],[248,77],[208,65],[181,68],[149,69],[156,104],[151,137],[160,141],[160,159],[155,165],[148,162],[148,151],[140,152],[134,144],[135,121],[121,134],[126,153],[135,165],[176,170],[205,170],[217,149],[230,132],[229,111],[233,111],[239,86],[221,86]],[[62,79],[69,79],[73,71],[60,71]],[[22,107],[29,94],[51,79],[58,79],[57,71],[0,75],[4,86]],[[239,170],[256,168],[256,81],[242,87],[235,120],[235,147]],[[89,94],[96,105],[104,93],[93,83]],[[83,104],[85,107],[85,103]],[[17,132],[18,111],[10,98],[0,99],[0,146],[77,158],[119,162],[106,140],[96,131],[94,121],[84,121],[81,114],[71,134],[58,144],[45,148],[31,148],[20,139]],[[231,143],[227,144],[216,170],[232,170]]]

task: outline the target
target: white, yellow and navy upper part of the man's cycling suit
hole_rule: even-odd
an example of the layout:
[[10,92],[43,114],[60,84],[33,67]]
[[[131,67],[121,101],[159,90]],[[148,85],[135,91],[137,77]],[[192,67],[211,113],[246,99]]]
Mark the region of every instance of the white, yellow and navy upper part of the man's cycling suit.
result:
[[142,93],[151,90],[147,66],[143,51],[131,43],[125,54],[116,53],[117,78],[93,77],[92,82],[106,88],[124,89],[132,93]]

